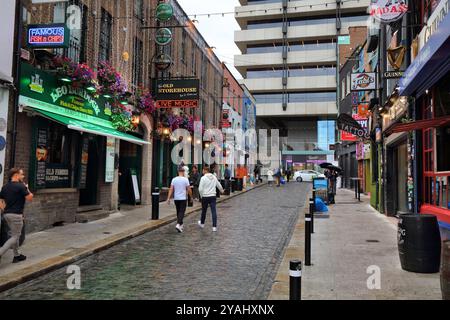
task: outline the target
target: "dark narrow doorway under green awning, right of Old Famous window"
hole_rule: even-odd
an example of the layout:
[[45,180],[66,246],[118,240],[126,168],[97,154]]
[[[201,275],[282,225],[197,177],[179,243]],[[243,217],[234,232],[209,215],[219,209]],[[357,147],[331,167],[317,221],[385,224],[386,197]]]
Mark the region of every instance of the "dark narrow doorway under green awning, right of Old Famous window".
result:
[[84,189],[80,189],[80,206],[92,206],[97,204],[98,172],[100,159],[99,139],[100,137],[98,136],[89,136],[86,187]]

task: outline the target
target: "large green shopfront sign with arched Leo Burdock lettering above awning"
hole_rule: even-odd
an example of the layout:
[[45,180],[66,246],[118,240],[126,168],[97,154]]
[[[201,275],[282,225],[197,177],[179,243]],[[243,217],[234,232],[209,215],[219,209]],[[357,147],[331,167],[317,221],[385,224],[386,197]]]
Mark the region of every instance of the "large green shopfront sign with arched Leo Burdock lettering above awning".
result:
[[19,104],[113,129],[106,99],[64,84],[27,63],[21,65]]

